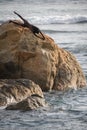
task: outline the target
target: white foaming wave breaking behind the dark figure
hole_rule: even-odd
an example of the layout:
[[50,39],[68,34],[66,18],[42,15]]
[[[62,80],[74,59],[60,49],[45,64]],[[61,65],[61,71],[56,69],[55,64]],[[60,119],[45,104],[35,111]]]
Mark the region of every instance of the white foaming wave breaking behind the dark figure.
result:
[[87,23],[87,16],[34,16],[28,20],[33,24],[76,24]]

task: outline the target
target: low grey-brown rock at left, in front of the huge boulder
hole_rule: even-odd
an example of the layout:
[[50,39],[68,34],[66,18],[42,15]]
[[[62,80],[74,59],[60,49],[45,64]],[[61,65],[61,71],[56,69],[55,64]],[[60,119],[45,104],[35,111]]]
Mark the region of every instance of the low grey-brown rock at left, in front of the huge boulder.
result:
[[44,98],[39,85],[28,79],[0,80],[0,106],[20,102],[31,95]]

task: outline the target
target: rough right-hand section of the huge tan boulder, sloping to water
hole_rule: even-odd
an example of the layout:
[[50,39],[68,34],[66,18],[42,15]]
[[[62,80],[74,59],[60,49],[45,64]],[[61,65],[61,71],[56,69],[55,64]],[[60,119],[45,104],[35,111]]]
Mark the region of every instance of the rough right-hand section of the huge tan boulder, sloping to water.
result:
[[58,53],[59,63],[53,89],[66,90],[86,86],[85,76],[76,58],[70,52],[61,48]]

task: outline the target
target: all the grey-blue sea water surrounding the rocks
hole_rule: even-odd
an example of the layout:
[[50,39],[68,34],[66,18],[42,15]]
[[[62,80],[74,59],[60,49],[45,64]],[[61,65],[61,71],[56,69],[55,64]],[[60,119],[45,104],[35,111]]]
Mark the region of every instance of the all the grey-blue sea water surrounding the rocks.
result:
[[[0,23],[19,19],[13,11],[73,53],[87,79],[87,0],[0,0]],[[0,108],[0,130],[87,130],[87,86],[44,95],[49,108]]]

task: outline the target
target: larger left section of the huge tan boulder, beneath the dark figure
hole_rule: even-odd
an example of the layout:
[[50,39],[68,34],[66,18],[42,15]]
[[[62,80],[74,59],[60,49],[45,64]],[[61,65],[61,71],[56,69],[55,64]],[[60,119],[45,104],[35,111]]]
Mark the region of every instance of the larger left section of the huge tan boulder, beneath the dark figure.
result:
[[[42,90],[50,90],[56,76],[57,45],[37,38],[28,28],[5,23],[0,26],[0,78],[28,78]],[[3,59],[2,59],[3,57]]]

